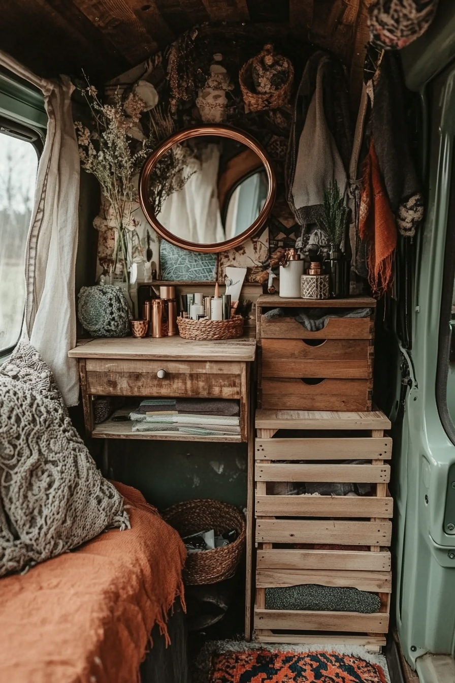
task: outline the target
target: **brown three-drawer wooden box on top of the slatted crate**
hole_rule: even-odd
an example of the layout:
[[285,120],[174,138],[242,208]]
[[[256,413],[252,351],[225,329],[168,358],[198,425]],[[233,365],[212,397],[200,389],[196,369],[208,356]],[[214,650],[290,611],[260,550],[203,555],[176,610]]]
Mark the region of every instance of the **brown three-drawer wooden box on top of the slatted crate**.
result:
[[[366,318],[329,318],[310,332],[295,318],[267,319],[274,307],[308,310],[325,306],[369,308]],[[256,304],[259,342],[258,405],[282,410],[371,410],[375,300],[331,300],[260,296]],[[295,313],[295,311],[294,311]]]

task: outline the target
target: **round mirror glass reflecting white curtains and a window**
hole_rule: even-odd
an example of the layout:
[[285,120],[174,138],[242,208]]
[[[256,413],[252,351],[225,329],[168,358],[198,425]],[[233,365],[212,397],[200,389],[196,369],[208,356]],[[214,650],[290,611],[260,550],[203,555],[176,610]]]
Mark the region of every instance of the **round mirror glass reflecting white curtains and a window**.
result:
[[[163,177],[166,190],[157,200]],[[230,240],[248,229],[263,209],[267,189],[267,173],[256,152],[220,136],[173,145],[149,178],[158,221],[175,236],[201,245]]]

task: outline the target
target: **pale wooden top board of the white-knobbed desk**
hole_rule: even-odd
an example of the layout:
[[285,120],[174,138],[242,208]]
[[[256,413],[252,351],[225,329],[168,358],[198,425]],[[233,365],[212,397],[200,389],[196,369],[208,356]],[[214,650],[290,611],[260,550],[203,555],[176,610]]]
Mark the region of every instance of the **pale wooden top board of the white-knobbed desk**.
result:
[[256,339],[219,339],[192,342],[181,337],[81,339],[70,358],[116,358],[180,361],[254,361]]

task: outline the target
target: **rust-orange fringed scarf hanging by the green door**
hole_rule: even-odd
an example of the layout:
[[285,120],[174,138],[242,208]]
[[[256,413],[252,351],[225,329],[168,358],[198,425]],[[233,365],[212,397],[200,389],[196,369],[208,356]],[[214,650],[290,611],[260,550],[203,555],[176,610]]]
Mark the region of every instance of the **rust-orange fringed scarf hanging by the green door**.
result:
[[366,243],[368,282],[375,296],[383,296],[392,286],[397,235],[373,140],[364,163],[359,235]]

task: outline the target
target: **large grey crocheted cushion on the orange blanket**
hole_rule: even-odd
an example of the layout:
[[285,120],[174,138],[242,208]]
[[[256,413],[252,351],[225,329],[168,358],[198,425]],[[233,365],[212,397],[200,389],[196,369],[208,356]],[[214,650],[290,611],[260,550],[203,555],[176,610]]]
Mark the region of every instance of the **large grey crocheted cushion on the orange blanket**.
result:
[[121,495],[72,426],[29,344],[0,368],[0,576],[129,527]]

